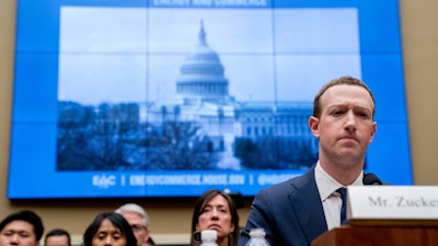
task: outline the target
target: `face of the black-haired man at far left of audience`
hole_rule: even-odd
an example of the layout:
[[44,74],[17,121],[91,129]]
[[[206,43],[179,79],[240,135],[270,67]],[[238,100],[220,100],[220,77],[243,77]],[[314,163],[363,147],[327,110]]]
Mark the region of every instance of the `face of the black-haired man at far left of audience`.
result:
[[34,226],[25,221],[12,221],[0,232],[0,246],[39,246]]

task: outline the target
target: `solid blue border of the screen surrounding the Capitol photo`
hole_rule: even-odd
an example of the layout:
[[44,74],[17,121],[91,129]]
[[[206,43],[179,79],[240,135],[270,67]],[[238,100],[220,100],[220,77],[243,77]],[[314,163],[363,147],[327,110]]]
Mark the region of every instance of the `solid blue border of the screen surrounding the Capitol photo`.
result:
[[[366,172],[372,172],[390,184],[413,184],[396,0],[254,1],[264,2],[266,5],[263,7],[199,7],[193,5],[191,1],[186,1],[187,5],[158,4],[159,2],[158,0],[18,1],[8,198],[193,197],[200,195],[209,187],[254,196],[261,188],[304,172],[302,169],[57,172],[56,137],[61,7],[119,7],[176,11],[189,9],[257,11],[268,9],[274,19],[276,11],[279,10],[356,9],[361,70],[358,75],[367,82],[377,101],[378,131],[369,148]],[[298,24],[306,28],[308,23]],[[283,55],[287,55],[287,51],[276,54],[277,57]],[[300,55],[313,56],[314,54]],[[323,70],[323,68],[321,69]],[[342,68],[338,69],[342,70]],[[314,73],[318,72],[318,70],[314,71]],[[208,179],[208,177],[215,181],[199,184],[199,179]],[[221,181],[223,178],[227,181]],[[170,179],[184,179],[184,181],[170,184]]]

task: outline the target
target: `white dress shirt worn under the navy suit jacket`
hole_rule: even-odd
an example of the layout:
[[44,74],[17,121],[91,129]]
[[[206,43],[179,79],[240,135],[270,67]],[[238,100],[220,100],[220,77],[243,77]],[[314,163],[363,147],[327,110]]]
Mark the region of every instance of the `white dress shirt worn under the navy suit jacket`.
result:
[[[356,178],[351,186],[364,186],[364,172]],[[341,195],[336,191],[343,185],[336,181],[321,167],[320,161],[315,166],[315,180],[320,191],[322,207],[324,208],[325,221],[328,231],[341,225]]]

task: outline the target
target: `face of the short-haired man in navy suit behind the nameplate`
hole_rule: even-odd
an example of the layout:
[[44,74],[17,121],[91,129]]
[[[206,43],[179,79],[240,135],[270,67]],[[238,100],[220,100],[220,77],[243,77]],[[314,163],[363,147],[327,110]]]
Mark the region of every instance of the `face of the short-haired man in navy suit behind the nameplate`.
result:
[[321,97],[319,119],[311,117],[312,133],[320,139],[320,157],[351,165],[364,161],[377,124],[372,98],[364,87],[334,85]]

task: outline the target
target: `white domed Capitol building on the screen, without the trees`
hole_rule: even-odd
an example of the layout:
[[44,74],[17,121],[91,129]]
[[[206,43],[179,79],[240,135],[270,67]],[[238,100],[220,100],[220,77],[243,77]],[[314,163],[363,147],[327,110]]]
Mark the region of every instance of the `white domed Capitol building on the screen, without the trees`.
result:
[[[166,120],[194,122],[209,137],[219,155],[217,168],[242,168],[241,160],[234,156],[237,139],[281,142],[278,153],[316,153],[318,142],[308,127],[310,102],[239,102],[229,93],[229,84],[239,82],[226,78],[224,70],[219,54],[208,45],[200,22],[198,44],[186,56],[175,80],[175,101],[155,102],[142,115],[148,115],[149,122],[155,126]],[[293,149],[306,151],[297,153]]]

